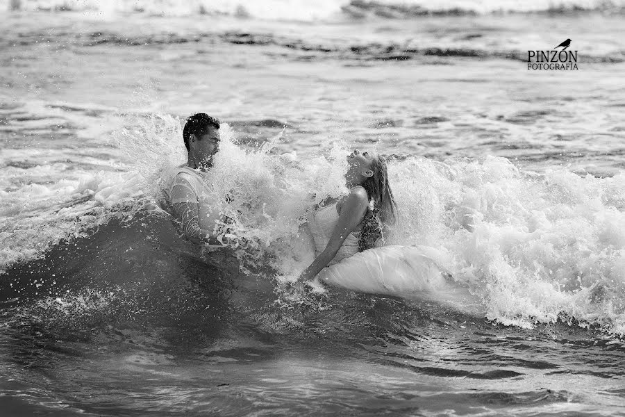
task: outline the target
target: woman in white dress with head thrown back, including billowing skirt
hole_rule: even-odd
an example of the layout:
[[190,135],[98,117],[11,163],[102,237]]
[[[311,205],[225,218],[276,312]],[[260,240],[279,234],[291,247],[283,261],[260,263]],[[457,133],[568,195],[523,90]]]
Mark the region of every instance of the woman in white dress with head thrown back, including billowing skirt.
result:
[[315,208],[308,227],[317,257],[299,277],[353,291],[454,302],[466,291],[449,280],[442,252],[424,246],[384,246],[397,221],[385,160],[354,150],[347,157],[349,194]]

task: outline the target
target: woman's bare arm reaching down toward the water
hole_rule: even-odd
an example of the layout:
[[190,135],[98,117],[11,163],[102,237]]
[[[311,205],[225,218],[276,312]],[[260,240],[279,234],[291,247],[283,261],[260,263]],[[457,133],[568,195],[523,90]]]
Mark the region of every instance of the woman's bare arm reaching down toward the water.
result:
[[302,272],[299,277],[301,281],[313,279],[322,269],[328,266],[328,263],[334,259],[347,236],[356,230],[358,224],[363,221],[367,212],[367,206],[369,206],[367,191],[362,187],[353,188],[347,196],[347,200],[343,203],[339,220],[328,241],[328,245],[326,245],[326,249]]

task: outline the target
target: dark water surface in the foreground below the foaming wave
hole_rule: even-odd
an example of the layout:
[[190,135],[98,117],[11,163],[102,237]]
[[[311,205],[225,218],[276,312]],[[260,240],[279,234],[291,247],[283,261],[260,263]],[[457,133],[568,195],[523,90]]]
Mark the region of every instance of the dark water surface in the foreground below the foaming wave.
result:
[[625,344],[598,330],[342,291],[281,307],[271,282],[176,239],[166,218],[113,221],[8,270],[7,415],[622,411]]

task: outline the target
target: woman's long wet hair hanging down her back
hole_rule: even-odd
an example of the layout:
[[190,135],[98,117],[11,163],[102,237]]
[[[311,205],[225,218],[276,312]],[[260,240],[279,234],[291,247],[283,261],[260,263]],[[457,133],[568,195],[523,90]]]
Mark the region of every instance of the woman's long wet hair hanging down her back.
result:
[[397,204],[388,183],[386,161],[382,156],[374,159],[371,165],[372,177],[362,184],[369,196],[369,208],[363,219],[363,228],[360,230],[358,250],[371,249],[378,239],[384,243],[390,227],[397,220]]

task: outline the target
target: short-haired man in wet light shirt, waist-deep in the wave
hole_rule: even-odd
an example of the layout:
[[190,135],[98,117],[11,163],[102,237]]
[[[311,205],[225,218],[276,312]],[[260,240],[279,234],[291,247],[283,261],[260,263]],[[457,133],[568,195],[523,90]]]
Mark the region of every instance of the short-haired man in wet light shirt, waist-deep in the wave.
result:
[[222,244],[219,226],[223,219],[215,204],[219,196],[201,174],[213,167],[213,158],[219,152],[219,120],[206,113],[192,115],[183,129],[183,140],[188,160],[174,170],[167,200],[181,222],[185,238],[196,245]]

